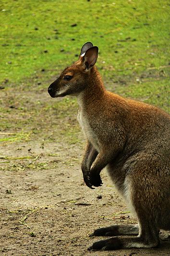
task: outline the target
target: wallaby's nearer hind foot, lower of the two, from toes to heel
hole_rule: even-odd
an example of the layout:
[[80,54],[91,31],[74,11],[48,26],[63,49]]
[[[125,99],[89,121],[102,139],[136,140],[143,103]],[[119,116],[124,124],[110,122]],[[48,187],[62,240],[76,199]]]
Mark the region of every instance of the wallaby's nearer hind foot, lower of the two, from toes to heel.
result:
[[125,248],[152,248],[157,247],[158,244],[158,239],[145,242],[141,237],[112,237],[95,242],[87,250],[110,251]]

